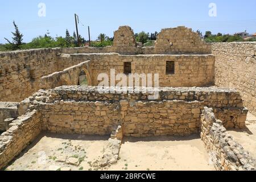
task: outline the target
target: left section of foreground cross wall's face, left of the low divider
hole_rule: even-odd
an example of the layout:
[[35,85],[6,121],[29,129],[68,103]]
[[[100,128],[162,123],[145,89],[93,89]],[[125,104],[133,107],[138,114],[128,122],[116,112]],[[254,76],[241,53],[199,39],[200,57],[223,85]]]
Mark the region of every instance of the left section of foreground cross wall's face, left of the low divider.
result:
[[117,102],[65,100],[40,110],[43,130],[52,133],[110,135],[120,121]]

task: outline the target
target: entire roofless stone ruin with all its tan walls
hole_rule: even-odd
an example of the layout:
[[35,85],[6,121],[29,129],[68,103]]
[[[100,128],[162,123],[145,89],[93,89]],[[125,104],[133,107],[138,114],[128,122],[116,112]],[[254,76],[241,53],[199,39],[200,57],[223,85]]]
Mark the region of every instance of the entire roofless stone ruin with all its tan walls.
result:
[[[243,56],[255,68],[255,44],[242,46],[251,50]],[[248,83],[251,91],[227,85],[220,70],[229,57],[219,47],[185,27],[163,29],[155,47],[139,47],[133,30],[123,26],[109,47],[0,53],[0,168],[47,131],[109,135],[99,159],[103,167],[117,162],[123,137],[200,134],[217,170],[254,170],[254,159],[226,129],[245,127],[245,106],[255,114],[255,75]],[[110,69],[115,74],[159,73],[158,98],[149,99],[152,88],[142,88],[146,93],[117,93],[125,89],[118,87],[99,92],[97,76],[110,76]]]

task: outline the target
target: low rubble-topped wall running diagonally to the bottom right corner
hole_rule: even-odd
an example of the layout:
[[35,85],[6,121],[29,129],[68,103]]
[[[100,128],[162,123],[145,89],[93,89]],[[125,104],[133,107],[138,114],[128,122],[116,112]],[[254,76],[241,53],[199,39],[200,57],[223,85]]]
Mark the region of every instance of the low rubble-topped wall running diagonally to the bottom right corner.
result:
[[201,139],[209,152],[214,167],[221,171],[255,170],[255,160],[241,144],[234,141],[222,121],[214,116],[213,109],[205,107],[201,114]]

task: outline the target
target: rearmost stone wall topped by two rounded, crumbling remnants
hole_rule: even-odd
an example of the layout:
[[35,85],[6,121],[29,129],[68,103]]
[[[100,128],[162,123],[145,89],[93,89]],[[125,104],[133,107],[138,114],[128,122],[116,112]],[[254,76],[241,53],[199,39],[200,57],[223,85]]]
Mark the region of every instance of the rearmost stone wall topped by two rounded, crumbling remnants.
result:
[[135,35],[129,26],[119,27],[114,32],[113,46],[104,48],[63,48],[62,53],[110,53],[122,54],[209,54],[211,44],[205,43],[196,32],[189,28],[177,27],[163,29],[157,37],[155,47],[137,47]]

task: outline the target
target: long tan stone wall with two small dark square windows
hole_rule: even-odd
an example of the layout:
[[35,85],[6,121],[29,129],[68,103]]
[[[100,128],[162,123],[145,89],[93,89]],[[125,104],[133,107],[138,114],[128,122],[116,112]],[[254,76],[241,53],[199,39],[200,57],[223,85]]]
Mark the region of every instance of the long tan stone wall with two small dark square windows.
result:
[[[118,53],[84,53],[71,55],[73,63],[91,60],[90,77],[92,85],[97,86],[100,73],[110,69],[115,74],[124,73],[124,63],[131,62],[131,73],[159,73],[159,86],[208,86],[214,84],[213,55],[119,55]],[[175,73],[166,74],[166,62],[175,62]],[[116,81],[118,83],[119,81]]]

